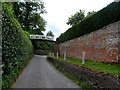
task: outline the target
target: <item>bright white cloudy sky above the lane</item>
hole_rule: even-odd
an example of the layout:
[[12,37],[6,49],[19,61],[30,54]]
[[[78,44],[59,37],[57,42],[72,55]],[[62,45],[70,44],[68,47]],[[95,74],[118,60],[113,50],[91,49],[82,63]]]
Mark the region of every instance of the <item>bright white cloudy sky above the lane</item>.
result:
[[114,0],[42,0],[47,14],[43,18],[47,21],[46,31],[52,31],[54,40],[64,33],[71,26],[67,25],[68,17],[74,15],[80,9],[89,11],[99,11],[109,5]]

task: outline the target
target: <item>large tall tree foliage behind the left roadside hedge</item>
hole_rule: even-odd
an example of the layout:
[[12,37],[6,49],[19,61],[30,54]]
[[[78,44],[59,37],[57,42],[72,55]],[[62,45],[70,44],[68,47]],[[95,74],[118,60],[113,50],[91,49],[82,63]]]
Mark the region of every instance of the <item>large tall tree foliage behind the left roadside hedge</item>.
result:
[[45,20],[41,14],[46,13],[42,1],[34,2],[13,2],[14,11],[17,19],[24,30],[30,34],[42,34],[45,31]]

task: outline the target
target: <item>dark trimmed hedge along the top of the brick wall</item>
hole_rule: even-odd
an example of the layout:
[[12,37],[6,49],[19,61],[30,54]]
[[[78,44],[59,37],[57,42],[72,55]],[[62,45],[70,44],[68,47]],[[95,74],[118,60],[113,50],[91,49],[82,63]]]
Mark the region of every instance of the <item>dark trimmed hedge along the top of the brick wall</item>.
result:
[[113,2],[82,22],[69,28],[57,38],[57,43],[62,43],[90,32],[96,31],[110,23],[120,20],[120,2]]

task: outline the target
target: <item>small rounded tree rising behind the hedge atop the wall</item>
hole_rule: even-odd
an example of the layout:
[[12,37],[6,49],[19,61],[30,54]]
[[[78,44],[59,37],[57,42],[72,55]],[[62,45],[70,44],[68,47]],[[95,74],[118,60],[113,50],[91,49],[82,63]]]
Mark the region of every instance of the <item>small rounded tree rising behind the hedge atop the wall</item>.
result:
[[80,10],[79,12],[76,12],[74,15],[71,15],[68,18],[68,25],[74,26],[77,23],[81,22],[85,18],[85,11]]

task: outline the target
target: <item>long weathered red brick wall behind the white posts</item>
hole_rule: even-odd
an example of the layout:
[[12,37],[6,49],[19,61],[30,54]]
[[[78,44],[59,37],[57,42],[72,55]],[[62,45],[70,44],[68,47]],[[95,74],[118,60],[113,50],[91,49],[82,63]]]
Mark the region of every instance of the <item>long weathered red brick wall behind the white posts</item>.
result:
[[66,51],[69,58],[82,58],[86,53],[87,60],[100,62],[118,62],[118,46],[120,34],[120,21],[107,25],[90,34],[72,39],[56,45],[55,53],[63,56]]

